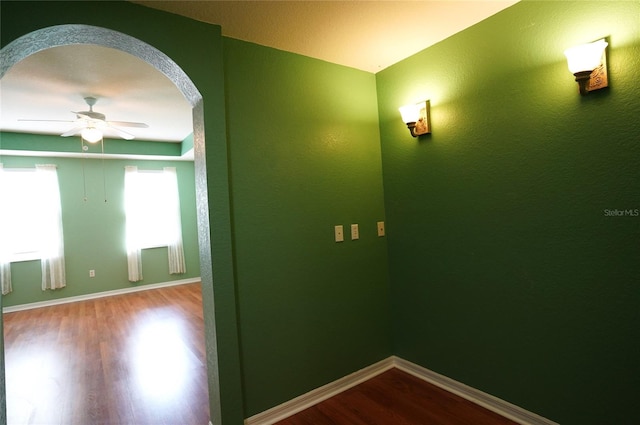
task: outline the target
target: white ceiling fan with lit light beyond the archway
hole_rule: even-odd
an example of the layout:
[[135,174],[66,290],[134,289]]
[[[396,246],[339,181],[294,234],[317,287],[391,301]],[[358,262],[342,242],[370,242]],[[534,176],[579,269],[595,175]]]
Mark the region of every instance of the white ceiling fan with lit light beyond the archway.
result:
[[136,128],[148,128],[147,124],[141,122],[129,122],[129,121],[107,121],[107,117],[93,110],[93,105],[96,104],[98,99],[95,97],[85,97],[84,101],[89,105],[88,111],[71,111],[76,114],[77,119],[75,121],[70,120],[26,120],[20,121],[49,121],[49,122],[70,122],[75,123],[75,127],[62,133],[60,136],[69,137],[76,134],[80,134],[82,138],[89,143],[96,143],[102,140],[104,130],[110,130],[120,136],[123,139],[131,140],[135,136],[128,133],[118,127],[136,127]]

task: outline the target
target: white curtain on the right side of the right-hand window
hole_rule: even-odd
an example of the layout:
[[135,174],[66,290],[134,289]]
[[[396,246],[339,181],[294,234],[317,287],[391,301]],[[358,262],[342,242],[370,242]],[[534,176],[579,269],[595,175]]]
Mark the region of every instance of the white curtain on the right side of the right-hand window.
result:
[[178,190],[178,174],[175,167],[164,168],[165,180],[167,181],[167,203],[173,210],[171,223],[168,223],[170,230],[170,241],[167,245],[169,252],[169,274],[186,273],[187,267],[184,262],[184,249],[182,246],[182,219],[180,216],[180,192]]

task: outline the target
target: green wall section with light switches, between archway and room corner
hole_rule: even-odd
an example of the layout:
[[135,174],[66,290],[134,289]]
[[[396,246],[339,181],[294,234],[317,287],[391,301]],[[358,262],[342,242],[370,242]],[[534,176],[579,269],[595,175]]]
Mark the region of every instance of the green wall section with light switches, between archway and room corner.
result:
[[227,38],[224,54],[250,416],[391,354],[380,144],[373,74]]

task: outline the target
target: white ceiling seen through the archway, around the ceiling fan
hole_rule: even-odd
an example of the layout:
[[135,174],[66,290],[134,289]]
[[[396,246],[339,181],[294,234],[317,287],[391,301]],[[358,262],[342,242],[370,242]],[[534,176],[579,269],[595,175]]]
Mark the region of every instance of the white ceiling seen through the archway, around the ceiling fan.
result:
[[[181,142],[193,128],[191,106],[164,74],[108,47],[61,46],[28,56],[7,71],[0,94],[4,131],[62,134],[76,127],[72,111],[89,109],[87,96],[97,99],[93,110],[107,121],[147,124],[121,127],[136,139]],[[108,130],[105,136],[118,137]]]

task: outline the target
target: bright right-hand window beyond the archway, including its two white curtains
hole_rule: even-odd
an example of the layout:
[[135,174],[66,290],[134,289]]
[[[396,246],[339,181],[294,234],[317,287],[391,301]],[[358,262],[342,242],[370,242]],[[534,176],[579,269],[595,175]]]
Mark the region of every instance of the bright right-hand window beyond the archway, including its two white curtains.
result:
[[174,167],[125,167],[125,214],[129,280],[142,280],[140,250],[166,246],[169,273],[185,273],[178,176]]

